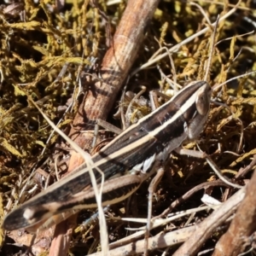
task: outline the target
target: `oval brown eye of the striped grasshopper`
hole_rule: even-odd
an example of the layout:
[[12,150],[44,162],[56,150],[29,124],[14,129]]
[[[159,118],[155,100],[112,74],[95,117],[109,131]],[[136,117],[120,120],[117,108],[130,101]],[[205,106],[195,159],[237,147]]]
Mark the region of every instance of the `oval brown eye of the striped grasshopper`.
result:
[[195,101],[195,107],[201,115],[206,115],[210,108],[211,100],[211,87],[209,84],[205,84],[198,91],[197,98]]

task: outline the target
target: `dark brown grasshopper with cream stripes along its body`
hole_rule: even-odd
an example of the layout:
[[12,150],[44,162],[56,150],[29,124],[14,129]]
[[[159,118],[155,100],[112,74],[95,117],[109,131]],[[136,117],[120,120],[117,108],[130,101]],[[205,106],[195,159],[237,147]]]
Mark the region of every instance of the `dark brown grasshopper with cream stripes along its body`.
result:
[[[205,81],[189,84],[92,156],[90,167],[97,182],[102,179],[97,169],[109,180],[103,188],[102,206],[130,196],[156,164],[162,165],[184,141],[199,136],[207,120],[211,91]],[[96,207],[88,171],[85,163],[26,201],[4,218],[3,228],[28,228],[60,212]],[[135,175],[125,175],[128,171]],[[141,177],[136,173],[142,173]],[[115,177],[117,175],[123,177]]]

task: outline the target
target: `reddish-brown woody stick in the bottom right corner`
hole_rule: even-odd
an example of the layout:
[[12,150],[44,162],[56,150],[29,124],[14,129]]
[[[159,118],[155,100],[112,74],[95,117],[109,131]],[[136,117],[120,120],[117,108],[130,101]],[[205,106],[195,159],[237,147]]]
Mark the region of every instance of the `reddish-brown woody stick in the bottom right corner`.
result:
[[256,231],[256,172],[247,184],[246,195],[236,211],[229,230],[219,239],[213,256],[236,256],[248,246]]

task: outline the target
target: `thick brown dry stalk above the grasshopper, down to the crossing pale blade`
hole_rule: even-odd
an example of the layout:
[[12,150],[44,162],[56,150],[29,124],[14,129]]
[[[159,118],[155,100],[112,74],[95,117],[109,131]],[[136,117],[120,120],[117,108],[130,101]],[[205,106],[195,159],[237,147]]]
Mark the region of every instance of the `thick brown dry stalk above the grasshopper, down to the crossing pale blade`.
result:
[[87,137],[83,134],[78,135],[79,127],[83,130],[93,130],[96,119],[107,119],[131,65],[137,58],[138,49],[143,43],[145,28],[154,15],[158,3],[159,0],[128,1],[113,36],[111,47],[102,60],[100,77],[94,80],[92,90],[84,96],[73,120],[75,129],[70,131],[69,136],[81,148],[90,148],[93,134]]

